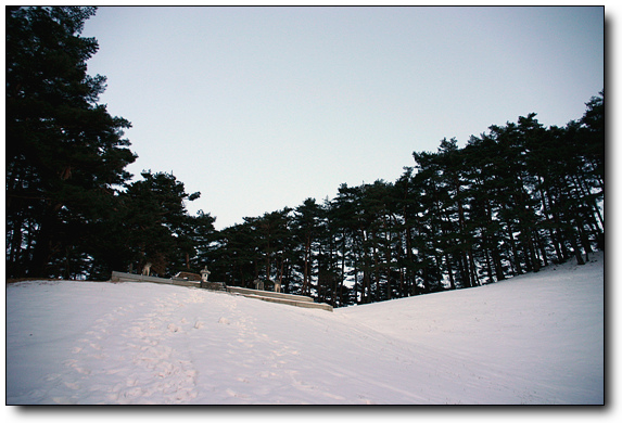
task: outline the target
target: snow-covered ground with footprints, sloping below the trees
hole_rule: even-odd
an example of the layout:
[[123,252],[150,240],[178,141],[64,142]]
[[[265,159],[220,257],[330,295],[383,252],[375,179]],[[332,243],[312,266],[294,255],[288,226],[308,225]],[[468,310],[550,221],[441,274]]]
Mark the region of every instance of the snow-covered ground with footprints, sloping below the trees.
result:
[[335,309],[151,283],[7,286],[7,403],[604,402],[604,259]]

